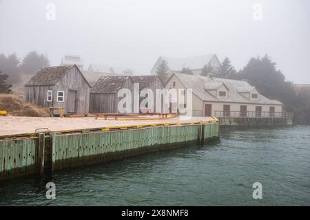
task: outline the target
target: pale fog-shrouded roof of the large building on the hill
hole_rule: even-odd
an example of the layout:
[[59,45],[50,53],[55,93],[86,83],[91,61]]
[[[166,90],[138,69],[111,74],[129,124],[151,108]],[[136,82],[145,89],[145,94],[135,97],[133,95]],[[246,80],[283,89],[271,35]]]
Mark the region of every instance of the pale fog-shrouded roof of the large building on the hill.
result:
[[157,62],[166,61],[169,65],[170,71],[178,72],[186,67],[188,67],[189,69],[202,69],[204,65],[207,65],[211,61],[211,59],[214,58],[214,56],[216,56],[216,54],[191,56],[191,57],[185,57],[185,58],[173,58],[173,57],[168,57],[168,56],[160,56]]

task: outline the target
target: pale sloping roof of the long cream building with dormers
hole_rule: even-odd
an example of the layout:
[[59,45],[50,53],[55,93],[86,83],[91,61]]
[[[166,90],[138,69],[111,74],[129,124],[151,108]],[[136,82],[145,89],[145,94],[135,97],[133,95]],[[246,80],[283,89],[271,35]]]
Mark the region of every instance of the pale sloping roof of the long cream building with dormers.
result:
[[[225,78],[214,78],[207,76],[195,76],[188,74],[173,74],[173,75],[175,75],[187,89],[192,89],[193,94],[198,96],[198,98],[200,98],[203,101],[238,102],[249,104],[282,104],[278,100],[270,100],[269,98],[266,98],[261,94],[258,96],[257,100],[251,100],[245,98],[245,96],[242,96],[240,93],[238,93],[238,87],[252,87],[246,81],[229,80]],[[205,85],[213,83],[225,84],[227,89],[229,89],[228,98],[214,97],[205,90]]]

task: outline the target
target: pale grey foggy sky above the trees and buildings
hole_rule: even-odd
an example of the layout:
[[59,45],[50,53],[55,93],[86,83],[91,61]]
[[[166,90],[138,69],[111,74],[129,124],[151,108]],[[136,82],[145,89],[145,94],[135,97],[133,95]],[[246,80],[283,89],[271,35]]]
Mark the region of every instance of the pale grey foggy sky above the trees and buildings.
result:
[[[55,21],[45,18],[56,5]],[[254,3],[262,20],[252,18]],[[149,73],[158,56],[216,53],[240,69],[269,54],[287,80],[310,83],[310,2],[307,0],[0,0],[0,53],[65,54],[89,63]]]

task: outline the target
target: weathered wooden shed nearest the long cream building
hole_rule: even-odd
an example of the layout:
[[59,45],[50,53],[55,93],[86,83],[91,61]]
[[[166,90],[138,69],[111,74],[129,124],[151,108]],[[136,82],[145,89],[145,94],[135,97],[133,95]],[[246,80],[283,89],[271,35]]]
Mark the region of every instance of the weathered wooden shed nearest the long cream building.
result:
[[[138,84],[139,87],[139,94],[141,94],[141,91],[143,89],[150,89],[153,93],[153,103],[154,106],[151,107],[147,103],[147,106],[145,109],[140,108],[140,111],[143,113],[146,112],[157,112],[157,113],[164,113],[166,112],[165,109],[167,109],[167,106],[165,106],[164,98],[166,94],[158,94],[156,93],[156,89],[165,89],[163,83],[161,82],[161,79],[156,76],[131,76],[132,81],[135,85]],[[142,96],[145,96],[144,94],[141,94]],[[148,95],[147,95],[148,96]],[[146,97],[146,96],[145,96]],[[145,99],[145,97],[140,97],[139,104]],[[156,101],[161,102],[161,109],[156,109]]]

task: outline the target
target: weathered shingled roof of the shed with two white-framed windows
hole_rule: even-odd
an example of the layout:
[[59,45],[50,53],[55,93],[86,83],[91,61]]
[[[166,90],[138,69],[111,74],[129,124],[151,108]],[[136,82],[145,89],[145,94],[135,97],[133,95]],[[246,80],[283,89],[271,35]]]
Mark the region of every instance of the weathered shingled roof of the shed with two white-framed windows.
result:
[[[79,73],[83,76],[81,73],[79,67],[76,65],[63,65],[63,66],[55,66],[55,67],[43,67],[35,74],[30,80],[25,84],[25,87],[31,87],[31,86],[45,86],[45,85],[56,85],[65,74],[67,74],[72,67],[76,67],[78,69]],[[85,79],[85,77],[83,76]],[[87,85],[90,86],[90,84],[85,79]]]

